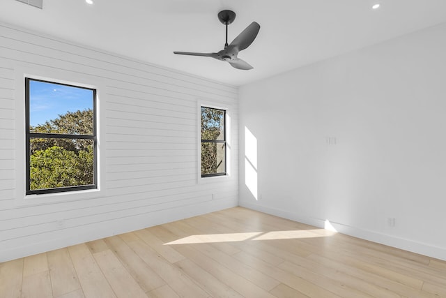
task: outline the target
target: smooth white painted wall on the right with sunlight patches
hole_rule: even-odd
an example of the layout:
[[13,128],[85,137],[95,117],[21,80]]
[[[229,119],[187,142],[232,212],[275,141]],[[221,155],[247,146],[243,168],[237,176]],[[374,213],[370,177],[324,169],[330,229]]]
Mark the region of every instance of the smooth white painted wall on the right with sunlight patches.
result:
[[241,87],[240,205],[446,260],[445,36]]

